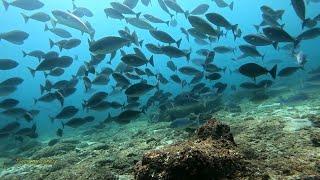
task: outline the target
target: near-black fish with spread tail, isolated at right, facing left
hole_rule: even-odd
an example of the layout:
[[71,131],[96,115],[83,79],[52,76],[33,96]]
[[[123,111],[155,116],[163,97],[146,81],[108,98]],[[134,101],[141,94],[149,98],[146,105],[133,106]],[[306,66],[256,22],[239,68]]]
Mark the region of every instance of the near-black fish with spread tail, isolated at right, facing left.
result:
[[247,63],[239,68],[239,72],[245,76],[253,78],[254,80],[256,79],[256,77],[268,73],[272,76],[273,79],[275,79],[277,74],[277,65],[273,66],[273,68],[269,71],[258,64]]

